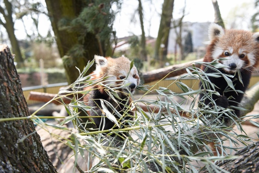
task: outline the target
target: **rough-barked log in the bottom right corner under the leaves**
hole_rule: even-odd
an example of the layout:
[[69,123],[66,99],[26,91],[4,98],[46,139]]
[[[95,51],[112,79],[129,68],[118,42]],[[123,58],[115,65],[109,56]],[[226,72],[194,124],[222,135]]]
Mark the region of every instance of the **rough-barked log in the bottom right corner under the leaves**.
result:
[[[234,155],[239,157],[237,159],[224,160],[224,162],[218,161],[216,165],[231,173],[252,173],[259,170],[259,141],[248,145]],[[208,170],[204,170],[199,173],[209,172]]]

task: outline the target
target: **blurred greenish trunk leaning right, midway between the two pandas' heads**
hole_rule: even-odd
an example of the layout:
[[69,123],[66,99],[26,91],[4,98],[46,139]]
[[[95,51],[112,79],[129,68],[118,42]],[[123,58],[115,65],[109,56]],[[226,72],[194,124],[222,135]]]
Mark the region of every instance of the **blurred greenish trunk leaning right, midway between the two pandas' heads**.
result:
[[[157,40],[155,44],[155,52],[154,52],[155,59],[159,58],[159,54],[161,54],[160,52],[163,51],[163,49],[167,49],[171,19],[173,18],[173,9],[174,9],[174,0],[164,0],[163,6],[162,6],[160,25],[159,25],[158,34],[157,34]],[[161,47],[161,44],[163,45],[162,47]],[[167,51],[163,51],[161,60],[163,57],[166,56],[166,54],[167,54]]]

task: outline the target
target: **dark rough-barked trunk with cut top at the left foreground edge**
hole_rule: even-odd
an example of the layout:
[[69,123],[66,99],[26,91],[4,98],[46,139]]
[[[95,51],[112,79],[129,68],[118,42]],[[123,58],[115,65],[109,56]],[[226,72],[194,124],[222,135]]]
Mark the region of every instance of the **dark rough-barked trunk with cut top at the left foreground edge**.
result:
[[[29,116],[12,54],[7,46],[0,51],[0,119]],[[31,120],[0,123],[0,172],[57,172]]]

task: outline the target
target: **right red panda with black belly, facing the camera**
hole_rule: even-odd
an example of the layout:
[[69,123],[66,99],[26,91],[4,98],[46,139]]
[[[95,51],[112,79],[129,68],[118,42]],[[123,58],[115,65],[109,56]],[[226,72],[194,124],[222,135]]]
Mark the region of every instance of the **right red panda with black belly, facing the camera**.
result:
[[[209,27],[210,44],[207,47],[204,62],[225,58],[227,60],[219,60],[219,63],[226,67],[218,70],[223,74],[231,74],[234,77],[230,78],[233,82],[235,90],[245,92],[250,82],[252,70],[259,64],[259,32],[251,33],[244,30],[223,29],[221,26],[213,23]],[[205,70],[205,66],[202,67]],[[239,81],[238,73],[240,71],[242,82]],[[217,71],[207,68],[205,73],[217,73]],[[235,114],[240,117],[240,111],[235,109],[239,106],[243,98],[242,92],[229,90],[224,92],[228,83],[223,77],[209,77],[209,80],[216,85],[215,90],[220,96],[212,94],[212,99],[215,100],[217,106],[227,108],[230,106]],[[243,84],[242,84],[243,83]],[[201,85],[202,89],[203,85]],[[205,93],[201,93],[199,99],[205,105],[211,106],[211,100],[208,98],[202,99]]]

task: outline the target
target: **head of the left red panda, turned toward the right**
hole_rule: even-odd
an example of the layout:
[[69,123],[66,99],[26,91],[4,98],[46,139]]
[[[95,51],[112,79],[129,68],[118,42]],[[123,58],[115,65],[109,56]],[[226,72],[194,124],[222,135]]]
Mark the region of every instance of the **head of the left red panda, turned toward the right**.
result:
[[[95,55],[96,70],[94,71],[96,78],[107,77],[105,84],[112,88],[119,88],[122,93],[134,92],[139,85],[140,78],[138,71],[133,65],[130,69],[130,60],[124,56],[118,58],[101,57]],[[123,80],[123,81],[118,81]]]

